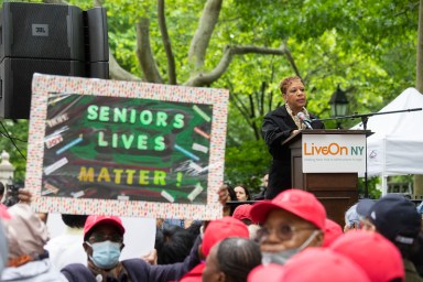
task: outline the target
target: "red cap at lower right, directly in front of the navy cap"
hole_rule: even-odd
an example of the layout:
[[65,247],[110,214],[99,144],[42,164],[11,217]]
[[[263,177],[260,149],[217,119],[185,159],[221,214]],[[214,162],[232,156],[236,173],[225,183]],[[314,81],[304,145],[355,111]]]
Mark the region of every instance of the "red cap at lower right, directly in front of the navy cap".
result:
[[336,239],[329,248],[360,265],[371,281],[404,280],[400,251],[378,232],[351,230]]

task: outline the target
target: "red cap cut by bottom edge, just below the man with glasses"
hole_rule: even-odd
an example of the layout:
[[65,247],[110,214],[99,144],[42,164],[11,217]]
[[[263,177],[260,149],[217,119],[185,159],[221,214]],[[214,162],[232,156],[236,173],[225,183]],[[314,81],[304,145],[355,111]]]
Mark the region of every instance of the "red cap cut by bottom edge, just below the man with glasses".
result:
[[347,257],[328,248],[311,247],[292,257],[282,267],[282,274],[278,281],[370,282],[371,280]]

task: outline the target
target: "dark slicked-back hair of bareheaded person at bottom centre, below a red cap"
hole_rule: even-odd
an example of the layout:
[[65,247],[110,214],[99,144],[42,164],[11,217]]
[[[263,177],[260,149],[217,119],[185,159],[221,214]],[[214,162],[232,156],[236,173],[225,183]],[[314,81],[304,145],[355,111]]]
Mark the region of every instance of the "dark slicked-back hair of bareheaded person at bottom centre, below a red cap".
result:
[[227,238],[217,247],[218,268],[227,282],[245,282],[248,273],[261,264],[260,246],[246,238]]

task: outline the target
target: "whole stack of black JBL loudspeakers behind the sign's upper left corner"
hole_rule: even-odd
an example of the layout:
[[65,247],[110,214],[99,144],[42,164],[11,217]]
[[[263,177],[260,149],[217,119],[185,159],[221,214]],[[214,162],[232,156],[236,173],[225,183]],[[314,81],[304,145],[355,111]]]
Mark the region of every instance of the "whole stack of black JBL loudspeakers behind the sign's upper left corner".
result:
[[34,73],[109,77],[104,8],[4,2],[0,11],[0,117],[28,119]]

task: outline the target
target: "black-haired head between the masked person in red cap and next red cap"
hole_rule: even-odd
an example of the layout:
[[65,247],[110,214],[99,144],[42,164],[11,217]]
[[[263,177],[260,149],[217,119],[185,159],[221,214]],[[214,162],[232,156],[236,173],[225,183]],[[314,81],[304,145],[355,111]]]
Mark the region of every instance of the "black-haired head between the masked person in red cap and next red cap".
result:
[[184,261],[195,241],[194,235],[180,226],[165,226],[162,230],[158,230],[158,235],[155,241],[158,264]]

